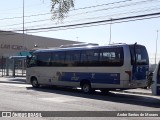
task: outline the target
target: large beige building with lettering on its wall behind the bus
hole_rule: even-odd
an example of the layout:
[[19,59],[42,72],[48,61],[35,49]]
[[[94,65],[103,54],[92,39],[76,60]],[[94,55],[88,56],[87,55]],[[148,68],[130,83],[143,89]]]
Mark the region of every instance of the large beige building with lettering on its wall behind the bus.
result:
[[40,37],[8,31],[0,31],[0,58],[17,55],[21,51],[38,48],[59,47],[76,41]]

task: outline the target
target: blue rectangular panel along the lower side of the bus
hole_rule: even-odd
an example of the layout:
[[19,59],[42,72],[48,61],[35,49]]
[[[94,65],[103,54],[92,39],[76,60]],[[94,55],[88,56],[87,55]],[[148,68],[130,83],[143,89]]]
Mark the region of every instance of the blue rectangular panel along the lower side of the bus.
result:
[[120,73],[63,72],[59,76],[59,80],[66,82],[90,80],[91,83],[120,84]]

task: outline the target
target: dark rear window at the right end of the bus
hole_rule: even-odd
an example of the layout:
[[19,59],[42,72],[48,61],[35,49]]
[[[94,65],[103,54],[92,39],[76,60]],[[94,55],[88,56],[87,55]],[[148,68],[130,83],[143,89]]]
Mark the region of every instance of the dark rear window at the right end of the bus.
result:
[[130,45],[131,64],[132,65],[148,65],[149,58],[147,50],[142,45]]

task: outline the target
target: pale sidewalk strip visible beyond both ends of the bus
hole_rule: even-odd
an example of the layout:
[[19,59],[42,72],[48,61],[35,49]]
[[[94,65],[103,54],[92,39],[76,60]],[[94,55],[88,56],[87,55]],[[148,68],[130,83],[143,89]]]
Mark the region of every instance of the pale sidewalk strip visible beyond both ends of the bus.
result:
[[[27,84],[25,77],[0,77],[0,83],[13,83],[13,84]],[[118,91],[122,93],[132,93],[132,94],[141,94],[141,95],[152,95],[151,89],[129,89]]]

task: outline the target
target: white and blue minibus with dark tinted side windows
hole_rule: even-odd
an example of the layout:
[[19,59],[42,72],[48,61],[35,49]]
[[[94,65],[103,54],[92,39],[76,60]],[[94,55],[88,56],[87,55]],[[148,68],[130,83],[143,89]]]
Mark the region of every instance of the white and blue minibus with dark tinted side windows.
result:
[[80,87],[84,93],[141,88],[147,85],[149,58],[140,44],[62,46],[32,53],[26,81],[40,85]]

